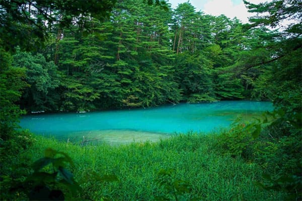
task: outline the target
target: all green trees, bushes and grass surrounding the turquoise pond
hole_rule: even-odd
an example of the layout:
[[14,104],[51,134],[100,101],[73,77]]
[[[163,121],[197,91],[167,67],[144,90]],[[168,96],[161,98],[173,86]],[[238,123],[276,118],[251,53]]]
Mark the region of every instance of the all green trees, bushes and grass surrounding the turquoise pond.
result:
[[[301,200],[302,2],[244,3],[248,24],[189,2],[0,1],[0,199]],[[275,110],[117,147],[19,126],[32,112],[220,100]]]

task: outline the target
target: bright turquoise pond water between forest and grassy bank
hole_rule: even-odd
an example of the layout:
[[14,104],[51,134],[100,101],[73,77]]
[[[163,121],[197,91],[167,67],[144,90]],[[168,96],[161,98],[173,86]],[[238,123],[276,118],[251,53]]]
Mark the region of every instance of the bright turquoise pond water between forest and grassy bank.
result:
[[148,140],[152,140],[175,132],[210,132],[228,127],[239,115],[248,117],[272,110],[270,102],[222,101],[104,112],[35,114],[24,116],[20,125],[33,133],[58,138],[84,135],[110,139],[110,136],[118,136],[120,141],[127,141],[125,138],[129,135],[129,139],[133,137],[134,140],[149,135]]

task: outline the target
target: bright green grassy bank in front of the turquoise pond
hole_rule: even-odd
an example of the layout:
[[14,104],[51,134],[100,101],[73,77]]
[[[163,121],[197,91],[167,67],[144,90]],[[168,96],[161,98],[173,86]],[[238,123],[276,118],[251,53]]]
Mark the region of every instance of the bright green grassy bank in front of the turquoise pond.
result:
[[[74,167],[69,168],[83,189],[77,199],[282,199],[282,194],[255,185],[255,181],[261,181],[262,174],[255,163],[218,152],[214,134],[178,135],[157,143],[84,147],[35,138],[23,156],[32,163],[43,157],[48,147],[67,153],[74,162]],[[95,173],[113,174],[119,181],[99,181]]]

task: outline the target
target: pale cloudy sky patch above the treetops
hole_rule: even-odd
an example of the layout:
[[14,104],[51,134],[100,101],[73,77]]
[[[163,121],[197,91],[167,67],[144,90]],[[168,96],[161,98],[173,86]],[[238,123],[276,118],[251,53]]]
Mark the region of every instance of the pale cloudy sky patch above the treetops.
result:
[[[169,0],[172,8],[177,8],[178,4],[188,2],[188,0]],[[248,17],[255,14],[248,13],[242,0],[189,0],[196,8],[196,11],[202,11],[205,14],[219,16],[221,14],[233,19],[237,17],[243,23],[248,23]],[[250,3],[259,4],[265,0],[249,0]],[[267,0],[271,2],[271,0]]]

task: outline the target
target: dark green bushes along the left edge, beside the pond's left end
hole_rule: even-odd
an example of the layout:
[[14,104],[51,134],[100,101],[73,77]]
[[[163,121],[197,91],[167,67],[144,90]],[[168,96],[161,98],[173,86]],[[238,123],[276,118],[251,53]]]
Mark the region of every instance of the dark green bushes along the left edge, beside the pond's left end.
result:
[[[16,199],[10,187],[20,182],[27,171],[24,159],[16,156],[34,142],[31,133],[17,130],[20,115],[25,114],[17,105],[22,89],[28,86],[25,72],[25,68],[12,66],[10,53],[0,48],[0,181],[1,197],[8,200]],[[22,165],[17,166],[20,161]]]

